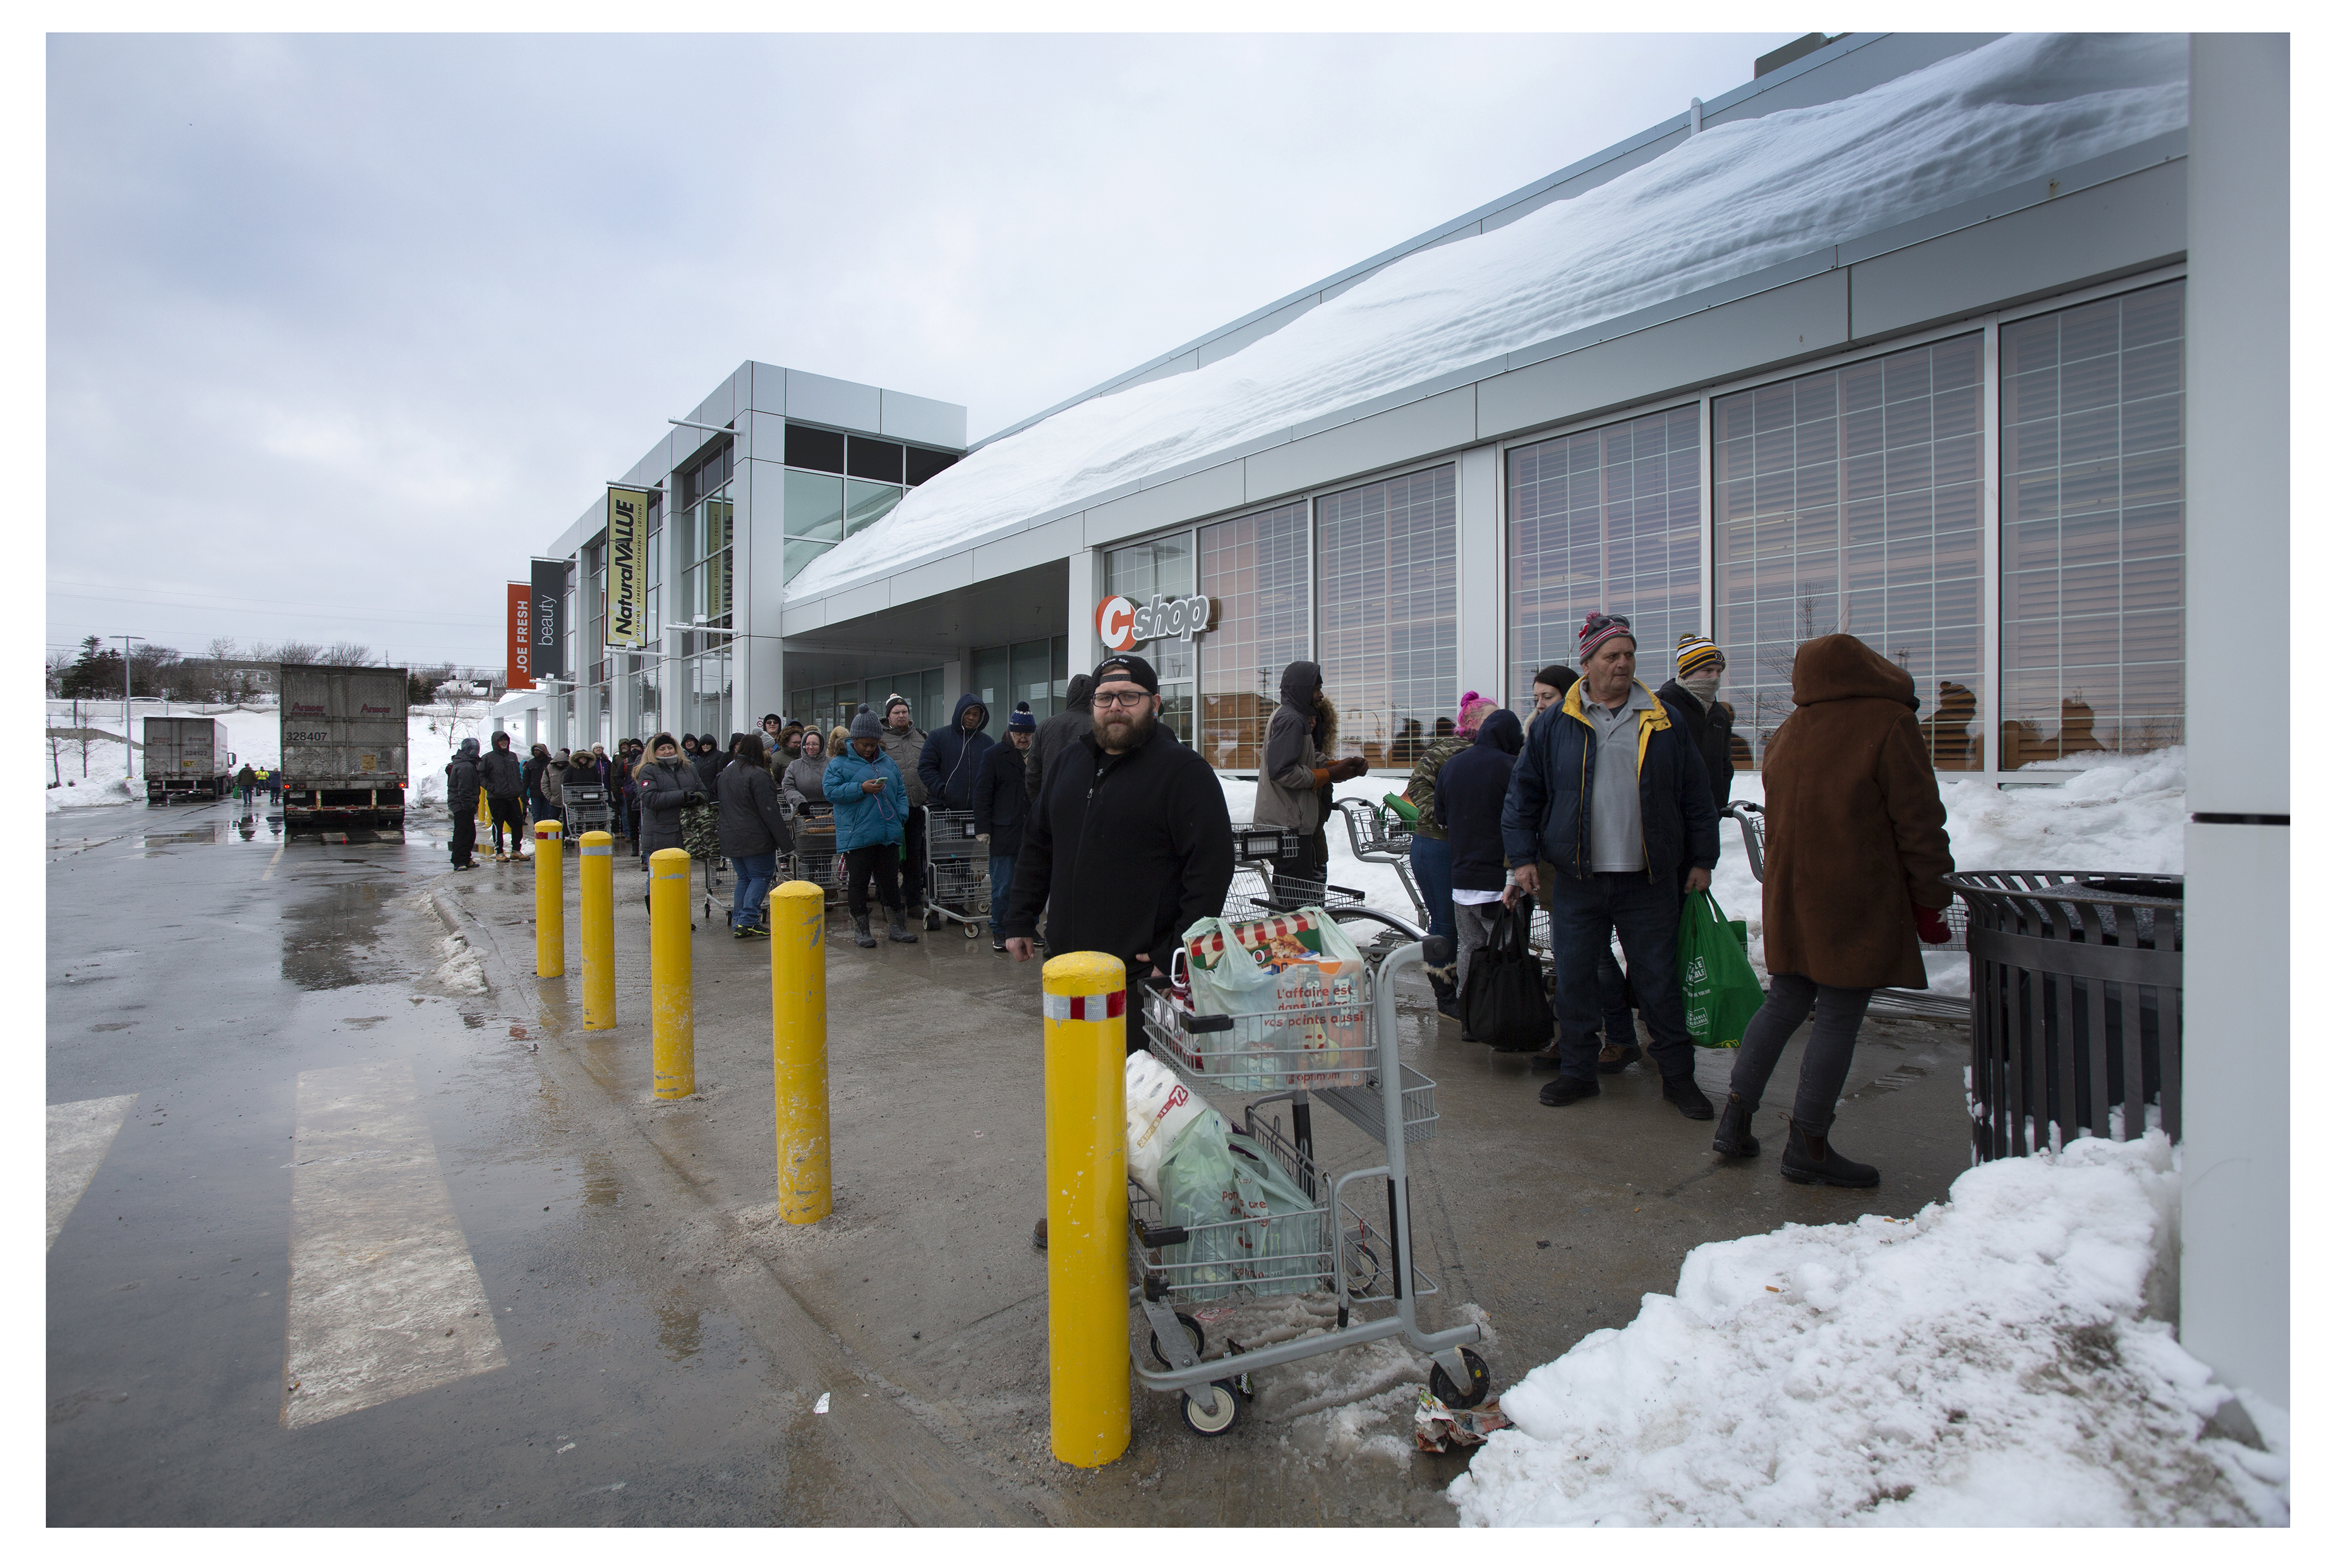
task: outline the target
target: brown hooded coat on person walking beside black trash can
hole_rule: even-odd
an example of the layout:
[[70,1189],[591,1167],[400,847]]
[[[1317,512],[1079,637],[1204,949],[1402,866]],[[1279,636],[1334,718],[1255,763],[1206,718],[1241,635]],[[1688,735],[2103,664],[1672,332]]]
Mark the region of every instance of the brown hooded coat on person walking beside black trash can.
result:
[[1770,975],[1924,989],[1914,905],[1954,893],[1947,805],[1914,721],[1914,677],[1849,633],[1793,651],[1793,712],[1761,763]]

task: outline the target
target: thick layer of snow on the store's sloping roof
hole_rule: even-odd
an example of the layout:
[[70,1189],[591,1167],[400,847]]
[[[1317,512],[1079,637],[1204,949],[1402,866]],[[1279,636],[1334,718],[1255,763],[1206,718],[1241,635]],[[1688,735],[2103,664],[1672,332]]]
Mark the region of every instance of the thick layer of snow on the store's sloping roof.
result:
[[791,579],[823,598],[1256,437],[2189,123],[2184,35],[2012,35],[1854,98],[1712,126],[1419,251],[1200,370],[979,447]]

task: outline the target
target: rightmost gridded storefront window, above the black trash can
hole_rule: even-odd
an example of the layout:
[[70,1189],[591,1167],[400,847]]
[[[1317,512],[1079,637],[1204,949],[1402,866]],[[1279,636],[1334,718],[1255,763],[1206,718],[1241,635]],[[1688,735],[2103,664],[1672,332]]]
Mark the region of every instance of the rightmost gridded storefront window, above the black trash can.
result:
[[2182,740],[2184,293],[2003,328],[2003,768]]

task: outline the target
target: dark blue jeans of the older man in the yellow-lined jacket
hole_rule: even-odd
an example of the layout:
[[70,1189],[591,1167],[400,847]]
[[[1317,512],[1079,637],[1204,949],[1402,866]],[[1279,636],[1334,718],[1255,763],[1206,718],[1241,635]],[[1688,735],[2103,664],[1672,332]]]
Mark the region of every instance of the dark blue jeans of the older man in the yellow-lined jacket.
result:
[[[1598,1075],[1603,1024],[1598,965],[1607,961],[1607,935],[1624,938],[1631,989],[1640,996],[1656,1070],[1696,1077],[1696,1045],[1679,1005],[1679,898],[1670,872],[1649,882],[1644,870],[1551,877],[1551,958],[1558,968],[1558,1072]],[[1621,1005],[1621,991],[1617,991]]]

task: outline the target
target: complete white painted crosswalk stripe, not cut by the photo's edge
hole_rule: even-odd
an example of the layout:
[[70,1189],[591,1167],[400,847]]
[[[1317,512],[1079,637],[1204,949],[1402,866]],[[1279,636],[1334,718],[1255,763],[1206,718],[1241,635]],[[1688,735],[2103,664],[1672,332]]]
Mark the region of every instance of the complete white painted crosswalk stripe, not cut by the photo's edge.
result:
[[298,1075],[284,1426],[507,1366],[407,1063]]

